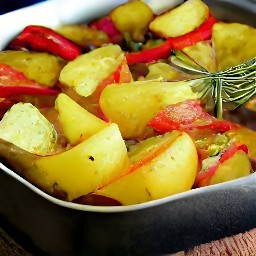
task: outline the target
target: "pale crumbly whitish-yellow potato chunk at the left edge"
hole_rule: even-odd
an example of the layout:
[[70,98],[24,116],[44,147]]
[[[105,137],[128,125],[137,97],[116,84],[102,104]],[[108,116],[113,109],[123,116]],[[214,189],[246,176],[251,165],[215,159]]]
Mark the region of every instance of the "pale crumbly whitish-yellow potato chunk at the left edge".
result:
[[17,103],[0,121],[0,138],[36,155],[53,154],[57,144],[53,125],[29,103]]

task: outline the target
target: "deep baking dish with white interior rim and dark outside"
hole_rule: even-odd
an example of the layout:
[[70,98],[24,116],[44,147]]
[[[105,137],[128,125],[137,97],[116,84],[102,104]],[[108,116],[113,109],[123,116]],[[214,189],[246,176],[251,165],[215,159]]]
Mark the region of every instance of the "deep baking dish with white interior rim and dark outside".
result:
[[[0,49],[25,25],[88,21],[125,1],[49,1],[0,17]],[[255,24],[253,1],[206,1],[222,20]],[[6,25],[8,24],[8,25]],[[256,174],[133,206],[53,198],[0,165],[0,221],[35,255],[166,255],[256,225]]]

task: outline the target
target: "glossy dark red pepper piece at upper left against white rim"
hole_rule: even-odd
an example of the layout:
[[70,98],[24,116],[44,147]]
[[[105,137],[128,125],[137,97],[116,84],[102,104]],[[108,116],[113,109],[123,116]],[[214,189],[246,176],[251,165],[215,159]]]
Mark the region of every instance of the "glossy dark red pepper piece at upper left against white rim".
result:
[[50,28],[35,25],[25,27],[8,48],[49,52],[68,61],[82,54],[80,47],[64,36]]

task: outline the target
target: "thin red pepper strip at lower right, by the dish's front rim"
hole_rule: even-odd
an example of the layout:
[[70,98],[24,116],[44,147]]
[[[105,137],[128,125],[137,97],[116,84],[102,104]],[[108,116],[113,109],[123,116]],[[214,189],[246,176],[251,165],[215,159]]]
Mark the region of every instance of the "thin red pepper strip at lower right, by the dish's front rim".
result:
[[231,158],[237,151],[243,151],[248,154],[248,148],[245,144],[233,143],[221,156],[221,158],[216,161],[215,164],[211,165],[206,171],[199,172],[195,179],[195,187],[202,187],[208,185],[209,179],[216,173],[219,166]]

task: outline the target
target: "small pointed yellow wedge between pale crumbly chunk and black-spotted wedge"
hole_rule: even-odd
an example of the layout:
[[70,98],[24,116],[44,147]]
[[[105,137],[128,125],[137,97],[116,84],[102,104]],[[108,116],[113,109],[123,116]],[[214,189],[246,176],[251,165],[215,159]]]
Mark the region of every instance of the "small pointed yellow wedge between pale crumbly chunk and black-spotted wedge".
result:
[[64,93],[58,95],[55,109],[59,113],[63,133],[71,144],[78,144],[108,126]]

